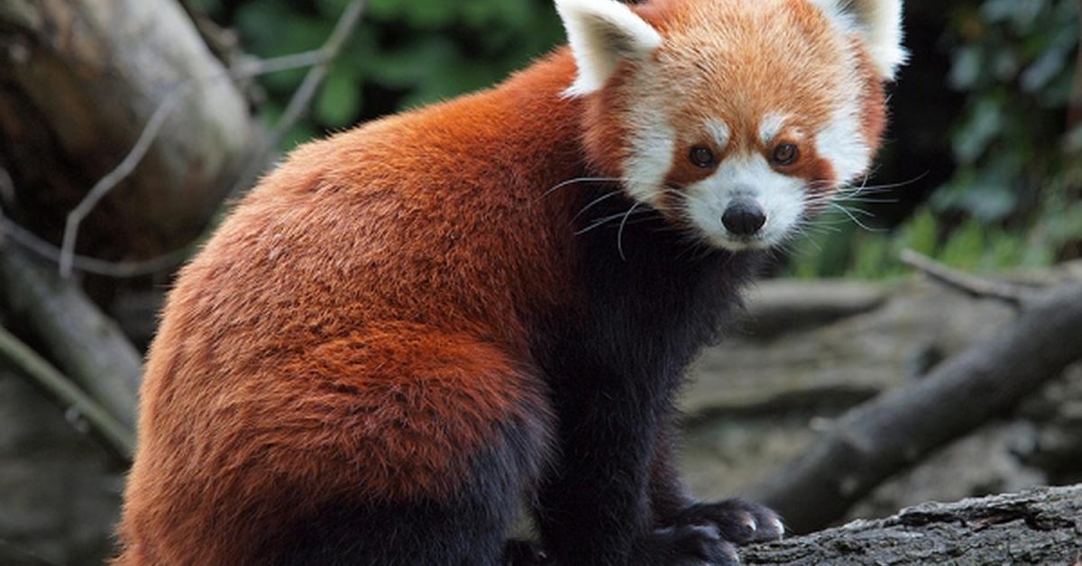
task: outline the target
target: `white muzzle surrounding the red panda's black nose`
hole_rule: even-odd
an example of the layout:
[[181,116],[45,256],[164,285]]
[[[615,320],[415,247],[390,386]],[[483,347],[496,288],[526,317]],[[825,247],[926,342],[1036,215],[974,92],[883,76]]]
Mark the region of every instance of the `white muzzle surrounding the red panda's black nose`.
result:
[[[804,213],[804,182],[778,173],[758,155],[734,156],[717,171],[686,189],[686,214],[711,245],[733,251],[763,249],[784,241]],[[737,198],[757,205],[766,224],[750,238],[729,233],[722,216]]]

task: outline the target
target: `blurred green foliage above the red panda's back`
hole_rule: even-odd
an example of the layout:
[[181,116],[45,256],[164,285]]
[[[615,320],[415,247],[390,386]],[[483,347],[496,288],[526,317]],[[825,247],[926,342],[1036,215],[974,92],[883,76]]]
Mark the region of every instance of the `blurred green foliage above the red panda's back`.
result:
[[[201,0],[261,57],[318,49],[349,0]],[[369,0],[296,141],[494,84],[563,37],[549,0]],[[304,70],[262,79],[273,121]]]

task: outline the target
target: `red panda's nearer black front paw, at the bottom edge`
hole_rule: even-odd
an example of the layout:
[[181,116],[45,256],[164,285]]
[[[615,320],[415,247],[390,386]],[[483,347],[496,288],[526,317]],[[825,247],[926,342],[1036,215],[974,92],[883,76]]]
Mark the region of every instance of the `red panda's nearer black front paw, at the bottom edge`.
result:
[[648,566],[736,566],[736,547],[712,525],[657,529],[638,541],[631,564]]

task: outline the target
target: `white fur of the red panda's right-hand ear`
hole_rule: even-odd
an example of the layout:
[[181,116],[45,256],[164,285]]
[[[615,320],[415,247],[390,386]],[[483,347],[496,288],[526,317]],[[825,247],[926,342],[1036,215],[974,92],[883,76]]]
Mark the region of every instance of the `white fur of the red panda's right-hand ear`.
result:
[[862,37],[876,70],[893,80],[909,58],[902,47],[902,0],[812,0],[849,34]]

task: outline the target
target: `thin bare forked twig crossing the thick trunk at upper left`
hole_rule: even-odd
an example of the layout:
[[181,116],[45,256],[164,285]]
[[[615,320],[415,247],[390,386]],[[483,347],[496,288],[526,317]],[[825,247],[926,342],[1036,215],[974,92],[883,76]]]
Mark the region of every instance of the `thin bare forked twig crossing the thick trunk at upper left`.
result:
[[[132,146],[132,149],[128,153],[128,155],[124,156],[124,158],[113,171],[95,183],[90,192],[87,193],[87,196],[84,196],[83,199],[76,205],[75,209],[68,213],[64,226],[64,237],[62,239],[61,256],[58,261],[61,276],[64,278],[71,276],[71,268],[75,264],[75,248],[79,235],[79,226],[82,224],[82,221],[85,220],[87,215],[90,214],[90,212],[97,206],[98,202],[101,202],[103,198],[105,198],[106,195],[109,194],[109,192],[116,188],[121,181],[127,179],[135,170],[138,163],[146,156],[150,145],[157,139],[166,119],[169,118],[182,100],[196,90],[196,87],[204,87],[208,83],[226,78],[237,80],[292,68],[313,67],[305,77],[304,82],[301,83],[301,87],[298,88],[296,92],[293,94],[289,106],[286,108],[285,115],[275,127],[275,131],[272,133],[269,140],[261,145],[260,149],[256,152],[252,163],[256,163],[259,168],[255,169],[253,166],[249,166],[246,169],[246,173],[241,175],[241,182],[246,185],[251,183],[251,180],[248,177],[251,176],[254,179],[255,175],[259,175],[263,163],[266,161],[266,154],[275,147],[278,142],[280,142],[285,132],[292,128],[293,123],[295,123],[302,115],[304,108],[311,104],[312,97],[315,95],[316,90],[319,88],[319,84],[327,75],[327,69],[331,61],[341,52],[342,47],[345,44],[345,40],[360,22],[365,4],[365,0],[354,0],[351,2],[349,5],[347,5],[343,11],[342,16],[339,18],[339,22],[327,42],[319,50],[262,62],[243,63],[219,74],[186,79],[174,87],[169,95],[167,95],[155,109],[149,120],[147,120],[147,123],[144,126],[135,145]],[[253,169],[254,173],[247,172]],[[230,195],[238,190],[238,186],[241,186],[241,184],[238,183],[233,189],[230,189]],[[185,247],[185,249],[187,248],[188,247]],[[174,253],[179,254],[180,250],[171,252],[169,255],[173,255]]]

